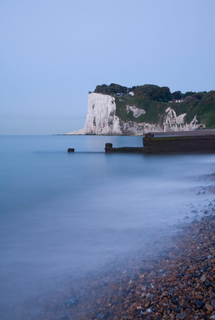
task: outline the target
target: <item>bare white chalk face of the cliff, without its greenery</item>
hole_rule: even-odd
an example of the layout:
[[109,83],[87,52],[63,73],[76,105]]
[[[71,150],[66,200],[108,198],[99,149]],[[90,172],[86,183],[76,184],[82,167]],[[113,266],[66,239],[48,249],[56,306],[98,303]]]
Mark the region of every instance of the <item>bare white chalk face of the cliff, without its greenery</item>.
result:
[[[117,98],[118,99],[118,98]],[[126,100],[119,99],[126,104]],[[96,135],[142,135],[146,132],[187,131],[205,127],[199,124],[196,116],[190,123],[185,122],[186,113],[176,116],[175,111],[168,107],[164,114],[159,115],[156,123],[139,122],[138,117],[147,111],[135,105],[126,104],[127,114],[137,121],[123,121],[115,115],[115,97],[107,94],[92,92],[88,96],[88,113],[84,128],[67,134],[96,134]]]

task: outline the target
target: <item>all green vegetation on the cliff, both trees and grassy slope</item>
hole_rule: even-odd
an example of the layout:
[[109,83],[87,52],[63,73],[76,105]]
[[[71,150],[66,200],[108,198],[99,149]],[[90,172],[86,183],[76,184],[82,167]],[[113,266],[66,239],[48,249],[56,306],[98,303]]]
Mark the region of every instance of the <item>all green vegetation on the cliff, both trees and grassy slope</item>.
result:
[[[147,122],[157,124],[163,122],[165,110],[172,108],[176,115],[186,113],[185,121],[190,123],[196,116],[199,124],[204,124],[206,129],[215,128],[215,91],[192,92],[181,91],[170,92],[168,87],[159,87],[154,84],[144,84],[131,88],[123,87],[119,84],[102,84],[96,86],[95,92],[110,94],[115,97],[115,114],[123,121],[134,121],[136,123]],[[125,93],[119,97],[116,93]],[[134,96],[127,95],[133,92]],[[183,99],[180,103],[170,103],[172,99]],[[145,110],[146,113],[139,117],[134,117],[133,112],[127,112],[126,106],[135,106]]]

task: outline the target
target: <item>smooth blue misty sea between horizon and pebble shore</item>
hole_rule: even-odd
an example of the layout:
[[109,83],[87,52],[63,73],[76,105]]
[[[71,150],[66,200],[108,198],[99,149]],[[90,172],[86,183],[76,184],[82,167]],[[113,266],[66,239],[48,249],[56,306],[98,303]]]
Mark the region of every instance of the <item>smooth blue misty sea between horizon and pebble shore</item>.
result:
[[[0,136],[1,318],[173,232],[215,155],[105,154],[128,136]],[[75,148],[75,153],[68,153]],[[190,190],[190,189],[194,189]],[[46,295],[47,298],[47,295]],[[69,297],[68,297],[69,298]]]

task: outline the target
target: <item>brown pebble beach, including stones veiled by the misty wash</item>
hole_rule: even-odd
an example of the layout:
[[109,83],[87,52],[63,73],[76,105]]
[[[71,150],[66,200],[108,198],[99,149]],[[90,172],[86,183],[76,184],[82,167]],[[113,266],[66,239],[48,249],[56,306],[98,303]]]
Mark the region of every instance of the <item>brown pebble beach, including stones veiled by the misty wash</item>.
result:
[[153,252],[131,252],[68,281],[53,300],[29,302],[25,319],[215,319],[215,200],[201,204],[201,195],[215,191],[211,185],[194,192],[199,207],[186,205],[192,218],[156,239]]

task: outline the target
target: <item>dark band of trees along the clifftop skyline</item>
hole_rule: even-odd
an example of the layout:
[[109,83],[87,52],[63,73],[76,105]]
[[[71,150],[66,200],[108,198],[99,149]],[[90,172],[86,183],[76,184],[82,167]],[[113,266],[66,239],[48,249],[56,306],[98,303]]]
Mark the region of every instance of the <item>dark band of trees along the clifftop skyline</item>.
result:
[[181,91],[170,92],[169,87],[159,87],[155,84],[144,84],[144,85],[137,85],[133,87],[123,87],[120,84],[111,83],[110,85],[101,84],[97,85],[94,92],[100,93],[127,93],[134,92],[134,97],[137,99],[148,99],[154,100],[159,102],[168,102],[173,99],[181,99],[186,98],[185,101],[190,101],[194,99],[201,100],[203,96],[207,93],[206,91],[203,92],[193,92],[187,91],[182,93]]

